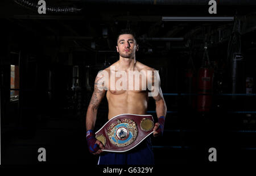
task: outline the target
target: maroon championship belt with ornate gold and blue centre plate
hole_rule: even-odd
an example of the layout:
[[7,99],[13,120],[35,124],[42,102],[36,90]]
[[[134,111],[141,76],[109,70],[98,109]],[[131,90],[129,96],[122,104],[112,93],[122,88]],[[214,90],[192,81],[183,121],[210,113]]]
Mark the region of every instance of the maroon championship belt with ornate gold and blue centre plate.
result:
[[95,133],[107,152],[126,152],[153,133],[152,115],[121,114],[110,119]]

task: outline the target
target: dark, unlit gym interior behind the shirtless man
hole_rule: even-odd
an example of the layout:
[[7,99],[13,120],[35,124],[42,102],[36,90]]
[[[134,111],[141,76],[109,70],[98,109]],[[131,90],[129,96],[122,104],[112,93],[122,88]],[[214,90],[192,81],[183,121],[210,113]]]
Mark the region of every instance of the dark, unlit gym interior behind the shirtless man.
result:
[[[217,149],[217,162],[254,162],[255,83],[253,94],[245,95],[246,78],[256,76],[254,1],[218,1],[217,14],[211,15],[207,1],[155,5],[55,0],[46,1],[52,7],[46,14],[38,14],[37,1],[16,2],[2,1],[0,7],[1,164],[42,164],[41,147],[46,148],[47,164],[97,163],[98,157],[86,146],[85,114],[97,72],[119,58],[115,43],[123,28],[136,32],[137,60],[159,70],[161,78],[168,113],[163,137],[152,138],[155,163],[209,163],[212,147]],[[70,7],[81,10],[71,12]],[[162,16],[236,20],[166,22]],[[198,86],[205,42],[214,76],[209,111],[201,112]],[[234,62],[233,53],[240,53],[242,60]],[[10,87],[11,65],[18,66],[15,89]],[[18,97],[10,98],[11,90]],[[107,113],[104,99],[96,131],[106,123]],[[152,98],[148,114],[156,119]]]

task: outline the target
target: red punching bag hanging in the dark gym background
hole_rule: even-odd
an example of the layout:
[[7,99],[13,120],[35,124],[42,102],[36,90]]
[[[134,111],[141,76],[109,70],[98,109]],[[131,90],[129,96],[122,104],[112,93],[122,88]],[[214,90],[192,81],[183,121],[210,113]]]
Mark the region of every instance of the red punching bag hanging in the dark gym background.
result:
[[[207,56],[207,61],[205,62],[205,55]],[[209,112],[212,106],[212,88],[213,88],[213,74],[214,69],[210,68],[210,62],[207,52],[207,47],[205,46],[205,52],[203,57],[203,65],[199,69],[198,74],[198,98],[197,98],[197,111],[199,112]]]

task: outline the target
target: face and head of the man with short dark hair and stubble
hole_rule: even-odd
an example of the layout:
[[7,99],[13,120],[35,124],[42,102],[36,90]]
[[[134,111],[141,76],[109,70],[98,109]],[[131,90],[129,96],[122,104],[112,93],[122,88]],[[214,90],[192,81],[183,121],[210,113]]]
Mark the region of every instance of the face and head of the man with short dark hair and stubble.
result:
[[121,57],[133,58],[138,51],[138,45],[131,34],[120,35],[117,41],[117,52]]

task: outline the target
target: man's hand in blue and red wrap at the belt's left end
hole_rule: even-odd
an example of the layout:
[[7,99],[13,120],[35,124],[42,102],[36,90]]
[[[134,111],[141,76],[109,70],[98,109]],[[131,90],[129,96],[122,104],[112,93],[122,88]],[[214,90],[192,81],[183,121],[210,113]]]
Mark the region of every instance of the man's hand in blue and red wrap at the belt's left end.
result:
[[101,149],[104,149],[104,145],[101,141],[97,140],[95,134],[92,130],[86,132],[86,140],[89,152],[92,154],[100,154],[103,152]]

